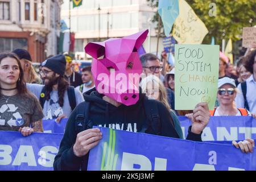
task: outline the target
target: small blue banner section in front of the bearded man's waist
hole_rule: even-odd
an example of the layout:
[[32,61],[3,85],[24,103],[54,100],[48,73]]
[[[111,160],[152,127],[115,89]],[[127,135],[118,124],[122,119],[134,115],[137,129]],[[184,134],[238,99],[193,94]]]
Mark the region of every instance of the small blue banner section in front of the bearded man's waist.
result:
[[65,131],[65,126],[68,118],[61,119],[59,123],[55,119],[43,120],[44,133],[61,133]]

